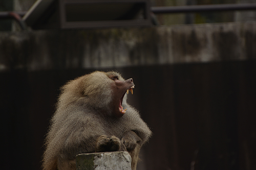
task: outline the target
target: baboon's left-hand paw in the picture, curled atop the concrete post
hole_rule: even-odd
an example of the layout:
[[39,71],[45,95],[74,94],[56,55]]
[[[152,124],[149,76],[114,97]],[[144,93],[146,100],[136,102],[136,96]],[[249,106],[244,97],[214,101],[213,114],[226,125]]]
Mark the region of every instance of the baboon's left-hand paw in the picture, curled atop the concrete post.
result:
[[96,152],[111,152],[119,151],[121,146],[121,141],[116,136],[108,137],[106,135],[101,135],[96,142]]

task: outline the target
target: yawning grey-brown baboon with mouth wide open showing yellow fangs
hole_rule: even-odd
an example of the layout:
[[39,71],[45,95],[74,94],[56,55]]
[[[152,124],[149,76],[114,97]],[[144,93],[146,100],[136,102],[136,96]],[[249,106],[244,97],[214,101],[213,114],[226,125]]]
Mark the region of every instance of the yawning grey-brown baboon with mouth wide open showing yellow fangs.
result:
[[45,141],[44,170],[76,169],[81,153],[127,151],[136,169],[140,148],[152,132],[126,103],[133,79],[95,71],[61,87]]

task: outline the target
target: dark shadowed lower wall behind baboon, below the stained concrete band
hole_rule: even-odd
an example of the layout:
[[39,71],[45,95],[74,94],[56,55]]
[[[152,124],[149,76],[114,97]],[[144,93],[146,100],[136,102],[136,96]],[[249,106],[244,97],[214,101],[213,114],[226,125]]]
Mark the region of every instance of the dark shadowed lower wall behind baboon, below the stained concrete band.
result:
[[[140,169],[256,168],[254,60],[116,70],[134,79],[128,102],[154,133]],[[59,87],[91,71],[0,72],[3,169],[40,169]]]

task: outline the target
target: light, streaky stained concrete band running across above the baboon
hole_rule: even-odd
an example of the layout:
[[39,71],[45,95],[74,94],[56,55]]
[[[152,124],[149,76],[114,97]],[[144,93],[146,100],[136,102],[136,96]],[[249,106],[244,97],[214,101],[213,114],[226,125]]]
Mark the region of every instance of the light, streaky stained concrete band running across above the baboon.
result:
[[0,69],[99,68],[255,59],[256,22],[2,32]]

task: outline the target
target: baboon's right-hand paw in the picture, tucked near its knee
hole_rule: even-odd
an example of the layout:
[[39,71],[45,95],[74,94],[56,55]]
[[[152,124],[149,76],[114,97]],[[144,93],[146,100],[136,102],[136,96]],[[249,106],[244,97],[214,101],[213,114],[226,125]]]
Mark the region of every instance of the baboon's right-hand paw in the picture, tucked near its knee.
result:
[[124,133],[121,143],[125,145],[127,151],[133,151],[137,145],[141,144],[140,137],[133,131]]

